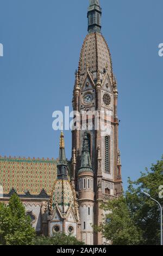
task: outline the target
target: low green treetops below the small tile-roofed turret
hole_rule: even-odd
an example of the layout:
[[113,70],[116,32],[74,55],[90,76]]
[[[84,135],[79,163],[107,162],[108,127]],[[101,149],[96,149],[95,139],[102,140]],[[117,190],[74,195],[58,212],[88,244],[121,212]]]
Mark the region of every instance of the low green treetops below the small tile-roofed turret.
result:
[[59,233],[53,237],[38,236],[34,239],[34,245],[84,245],[84,243],[72,235]]

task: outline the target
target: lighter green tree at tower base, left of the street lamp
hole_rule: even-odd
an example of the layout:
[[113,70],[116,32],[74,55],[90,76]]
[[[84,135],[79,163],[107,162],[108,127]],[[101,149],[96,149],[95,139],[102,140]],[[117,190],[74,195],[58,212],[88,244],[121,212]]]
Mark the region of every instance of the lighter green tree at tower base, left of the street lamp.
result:
[[108,201],[102,207],[105,211],[109,210],[104,224],[98,228],[105,239],[112,245],[139,245],[141,232],[131,218],[126,198],[122,196],[118,200]]

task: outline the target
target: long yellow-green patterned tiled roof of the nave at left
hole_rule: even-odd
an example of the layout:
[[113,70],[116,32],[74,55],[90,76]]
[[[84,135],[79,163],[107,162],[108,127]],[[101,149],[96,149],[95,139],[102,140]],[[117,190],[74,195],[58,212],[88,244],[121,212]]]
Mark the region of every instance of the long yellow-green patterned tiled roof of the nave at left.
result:
[[39,195],[44,189],[50,196],[56,180],[57,160],[0,156],[0,184],[4,194],[14,188],[18,195],[26,192]]

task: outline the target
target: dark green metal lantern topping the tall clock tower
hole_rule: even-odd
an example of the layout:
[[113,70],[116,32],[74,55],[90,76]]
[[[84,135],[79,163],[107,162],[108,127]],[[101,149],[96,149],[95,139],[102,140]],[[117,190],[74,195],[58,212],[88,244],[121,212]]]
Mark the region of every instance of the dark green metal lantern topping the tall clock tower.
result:
[[89,33],[101,33],[101,15],[102,9],[99,5],[99,0],[90,0],[90,5],[87,12]]

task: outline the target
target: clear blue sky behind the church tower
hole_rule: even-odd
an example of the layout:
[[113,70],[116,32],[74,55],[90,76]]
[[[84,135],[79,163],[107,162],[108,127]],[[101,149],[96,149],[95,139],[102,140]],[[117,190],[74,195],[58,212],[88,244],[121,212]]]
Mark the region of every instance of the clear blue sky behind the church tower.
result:
[[[71,106],[88,0],[0,0],[0,155],[58,157],[52,112]],[[118,81],[124,188],[163,154],[162,0],[101,0]],[[71,157],[71,132],[65,133]]]

